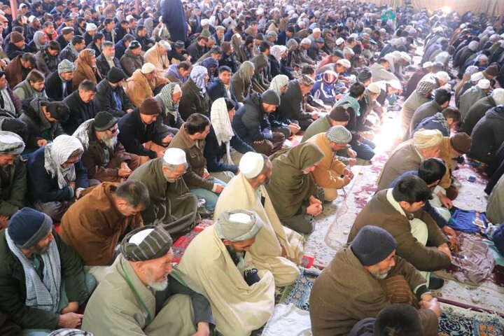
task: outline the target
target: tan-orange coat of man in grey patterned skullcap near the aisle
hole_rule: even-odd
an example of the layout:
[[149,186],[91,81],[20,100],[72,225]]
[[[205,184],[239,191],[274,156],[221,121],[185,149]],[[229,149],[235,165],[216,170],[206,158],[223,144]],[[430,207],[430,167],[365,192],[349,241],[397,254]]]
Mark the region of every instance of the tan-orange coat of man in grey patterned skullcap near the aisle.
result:
[[337,156],[330,148],[325,133],[316,134],[314,137],[308,139],[307,142],[316,144],[318,149],[324,153],[323,159],[317,163],[315,170],[311,173],[318,186],[322,188],[342,188],[344,180],[341,176],[346,165],[337,160]]

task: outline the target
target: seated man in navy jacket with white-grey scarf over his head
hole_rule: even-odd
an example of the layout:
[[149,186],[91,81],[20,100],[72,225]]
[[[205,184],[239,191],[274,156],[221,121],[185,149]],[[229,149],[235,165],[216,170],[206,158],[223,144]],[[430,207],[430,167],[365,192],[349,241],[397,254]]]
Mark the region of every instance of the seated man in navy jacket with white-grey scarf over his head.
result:
[[61,221],[66,209],[89,187],[87,171],[80,162],[82,153],[77,138],[62,134],[28,159],[29,195],[34,208],[55,221]]

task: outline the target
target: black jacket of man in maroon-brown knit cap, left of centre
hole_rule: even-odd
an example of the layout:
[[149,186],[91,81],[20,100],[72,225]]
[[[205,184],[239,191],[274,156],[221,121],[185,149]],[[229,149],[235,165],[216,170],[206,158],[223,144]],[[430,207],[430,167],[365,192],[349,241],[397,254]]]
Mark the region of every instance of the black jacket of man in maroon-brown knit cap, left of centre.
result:
[[156,123],[146,125],[142,122],[139,108],[120,118],[118,127],[118,140],[127,153],[148,156],[151,159],[158,158],[158,153],[145,148],[144,144],[153,141],[162,146],[163,134],[158,130]]

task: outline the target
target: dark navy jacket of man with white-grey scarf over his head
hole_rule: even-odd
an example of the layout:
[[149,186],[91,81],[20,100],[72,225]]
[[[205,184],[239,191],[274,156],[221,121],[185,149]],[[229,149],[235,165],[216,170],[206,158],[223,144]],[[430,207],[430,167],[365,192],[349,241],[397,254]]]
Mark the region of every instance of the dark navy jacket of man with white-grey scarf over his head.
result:
[[[51,177],[45,170],[45,146],[32,153],[27,162],[28,190],[32,201],[62,202],[73,200],[74,192],[69,186],[60,189],[57,176]],[[79,161],[75,164],[76,188],[88,188],[87,169]]]

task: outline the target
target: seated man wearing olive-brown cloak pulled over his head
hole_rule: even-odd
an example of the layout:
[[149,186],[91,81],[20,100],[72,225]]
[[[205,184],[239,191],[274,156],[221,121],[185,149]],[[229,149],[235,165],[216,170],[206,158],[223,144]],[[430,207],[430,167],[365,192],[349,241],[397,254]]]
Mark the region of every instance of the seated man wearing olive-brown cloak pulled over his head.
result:
[[272,181],[266,185],[283,225],[301,234],[315,229],[314,216],[322,213],[313,172],[323,153],[315,144],[304,143],[272,155]]

